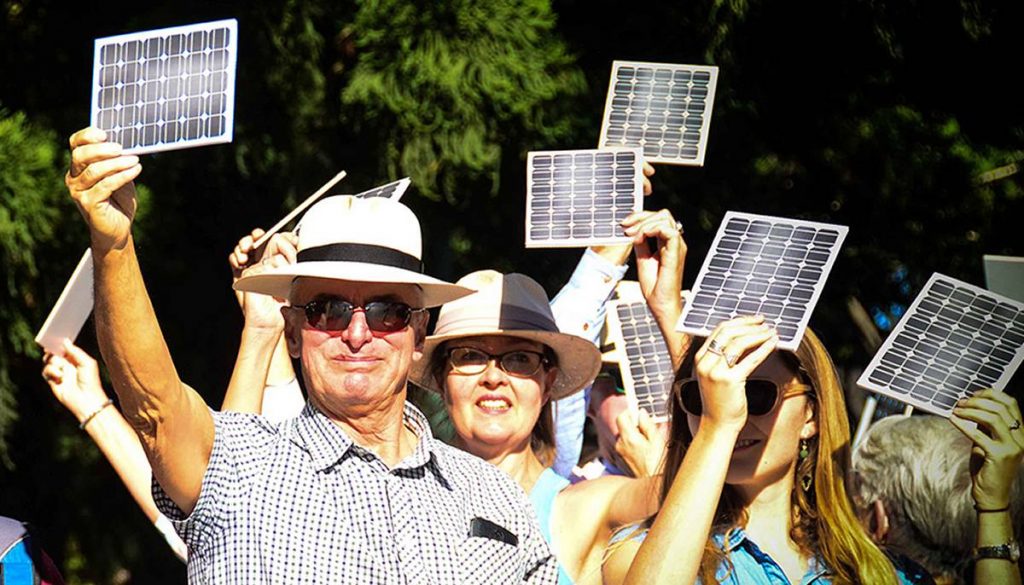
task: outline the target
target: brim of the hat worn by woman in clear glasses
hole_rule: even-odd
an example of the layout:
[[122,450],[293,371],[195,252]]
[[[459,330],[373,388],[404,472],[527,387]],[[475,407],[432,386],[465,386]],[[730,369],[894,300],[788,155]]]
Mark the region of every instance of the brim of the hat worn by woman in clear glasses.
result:
[[585,388],[601,371],[601,351],[590,341],[578,335],[554,331],[518,329],[472,329],[449,335],[431,335],[423,343],[423,359],[413,363],[409,378],[416,385],[440,392],[432,376],[433,364],[443,359],[437,348],[453,339],[465,337],[503,336],[537,341],[551,348],[558,359],[558,376],[551,389],[551,400],[560,400]]

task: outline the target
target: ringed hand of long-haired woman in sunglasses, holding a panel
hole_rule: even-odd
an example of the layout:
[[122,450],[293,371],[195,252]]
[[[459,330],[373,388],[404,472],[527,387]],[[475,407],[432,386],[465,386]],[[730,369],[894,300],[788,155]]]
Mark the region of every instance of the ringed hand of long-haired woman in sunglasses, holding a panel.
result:
[[746,379],[777,345],[778,336],[763,317],[738,317],[715,328],[694,358],[701,424],[746,423]]

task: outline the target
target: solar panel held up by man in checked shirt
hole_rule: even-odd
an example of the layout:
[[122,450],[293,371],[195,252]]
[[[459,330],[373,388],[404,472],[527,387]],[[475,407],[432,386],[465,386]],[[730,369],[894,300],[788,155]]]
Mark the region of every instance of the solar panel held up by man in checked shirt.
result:
[[238,22],[96,39],[91,125],[125,154],[230,142]]

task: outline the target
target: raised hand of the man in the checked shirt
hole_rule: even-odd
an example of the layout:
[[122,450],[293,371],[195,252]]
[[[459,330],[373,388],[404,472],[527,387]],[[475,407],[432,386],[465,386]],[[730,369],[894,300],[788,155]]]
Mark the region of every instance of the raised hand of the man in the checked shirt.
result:
[[106,133],[98,128],[73,134],[71,169],[65,176],[98,251],[127,244],[137,207],[132,181],[142,172],[138,157],[123,155],[121,144],[105,140]]

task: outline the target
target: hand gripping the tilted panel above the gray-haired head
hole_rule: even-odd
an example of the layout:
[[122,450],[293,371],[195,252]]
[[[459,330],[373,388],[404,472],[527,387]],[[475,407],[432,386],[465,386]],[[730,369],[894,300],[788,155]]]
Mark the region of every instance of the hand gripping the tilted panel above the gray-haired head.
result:
[[1024,459],[1024,429],[1017,401],[1006,392],[984,389],[961,401],[949,422],[974,442],[971,495],[978,509],[1009,506],[1010,491]]

